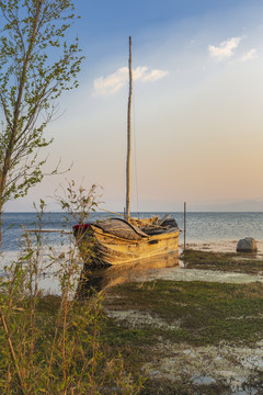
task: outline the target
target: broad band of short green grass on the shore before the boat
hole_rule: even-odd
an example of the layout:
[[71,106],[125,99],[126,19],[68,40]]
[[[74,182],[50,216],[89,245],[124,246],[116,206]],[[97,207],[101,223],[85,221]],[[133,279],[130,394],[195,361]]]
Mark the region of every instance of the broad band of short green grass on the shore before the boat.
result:
[[[122,326],[112,320],[107,336],[114,337],[115,331],[116,341],[123,338],[130,346],[150,347],[159,337],[199,346],[222,340],[252,346],[263,335],[261,283],[156,281],[141,286],[125,284],[110,290],[107,295],[111,297],[104,304],[108,309],[132,309],[152,317],[152,323],[140,321],[139,328],[133,330],[129,319],[123,319]],[[156,325],[158,319],[163,325]]]

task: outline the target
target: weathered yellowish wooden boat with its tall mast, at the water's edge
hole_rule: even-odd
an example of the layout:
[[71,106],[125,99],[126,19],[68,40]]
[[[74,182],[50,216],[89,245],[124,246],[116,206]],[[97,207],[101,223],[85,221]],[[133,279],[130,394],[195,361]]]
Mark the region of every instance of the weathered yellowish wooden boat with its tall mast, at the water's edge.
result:
[[129,99],[126,163],[126,210],[124,219],[108,218],[100,223],[73,227],[84,261],[91,267],[132,263],[146,258],[178,251],[180,229],[175,219],[158,217],[130,218],[130,110],[133,91],[132,38],[129,37]]

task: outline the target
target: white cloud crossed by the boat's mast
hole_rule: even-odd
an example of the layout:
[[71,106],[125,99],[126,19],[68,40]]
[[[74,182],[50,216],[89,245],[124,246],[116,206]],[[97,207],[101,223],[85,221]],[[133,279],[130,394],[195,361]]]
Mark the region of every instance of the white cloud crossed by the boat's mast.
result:
[[[133,70],[134,81],[155,82],[165,76],[168,76],[168,71],[158,69],[149,70],[149,67],[146,66],[138,66]],[[107,77],[96,78],[93,86],[95,92],[100,95],[114,94],[123,88],[127,80],[128,68],[122,67]]]

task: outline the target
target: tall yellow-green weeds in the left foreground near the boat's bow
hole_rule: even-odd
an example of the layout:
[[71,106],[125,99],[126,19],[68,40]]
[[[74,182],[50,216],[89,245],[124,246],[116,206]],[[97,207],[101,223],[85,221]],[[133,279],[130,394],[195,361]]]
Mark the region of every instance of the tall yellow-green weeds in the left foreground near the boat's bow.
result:
[[[69,200],[61,205],[84,221],[96,205],[94,188],[87,195],[73,187],[68,187]],[[105,320],[101,295],[73,297],[83,266],[77,241],[64,257],[50,247],[48,260],[42,259],[44,208],[41,201],[38,228],[24,233],[19,259],[0,278],[0,393],[138,394],[141,375],[134,379],[121,353],[101,340]],[[59,283],[56,296],[44,295],[39,282],[52,264]]]

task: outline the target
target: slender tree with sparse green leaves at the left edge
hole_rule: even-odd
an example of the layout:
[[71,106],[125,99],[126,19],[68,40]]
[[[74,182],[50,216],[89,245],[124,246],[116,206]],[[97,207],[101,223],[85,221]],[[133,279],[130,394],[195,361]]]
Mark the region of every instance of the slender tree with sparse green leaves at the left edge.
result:
[[[0,0],[0,242],[4,204],[43,179],[44,128],[62,91],[78,87],[78,37],[70,0]],[[67,38],[67,40],[66,40]]]

